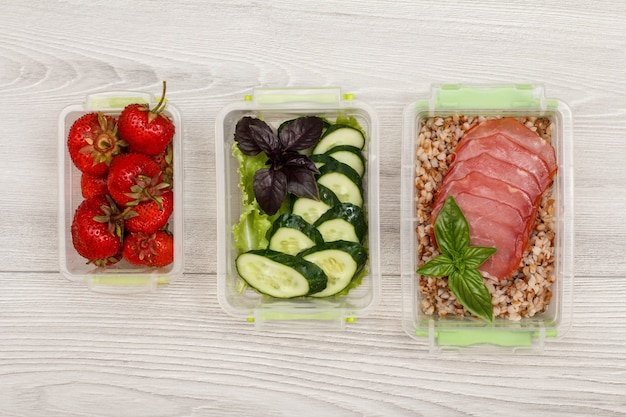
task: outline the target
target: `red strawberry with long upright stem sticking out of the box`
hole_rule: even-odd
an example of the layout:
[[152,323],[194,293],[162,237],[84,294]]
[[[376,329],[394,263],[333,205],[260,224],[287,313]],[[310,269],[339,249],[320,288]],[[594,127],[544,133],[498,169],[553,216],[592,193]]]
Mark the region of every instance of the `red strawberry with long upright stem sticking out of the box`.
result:
[[118,130],[131,152],[158,155],[172,141],[176,129],[174,123],[163,115],[165,106],[164,81],[161,101],[154,109],[147,104],[129,104],[122,110]]

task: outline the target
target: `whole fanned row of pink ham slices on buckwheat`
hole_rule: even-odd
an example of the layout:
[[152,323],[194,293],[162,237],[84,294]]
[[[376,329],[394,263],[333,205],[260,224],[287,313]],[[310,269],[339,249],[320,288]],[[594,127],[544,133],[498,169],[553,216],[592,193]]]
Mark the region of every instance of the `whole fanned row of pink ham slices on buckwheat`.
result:
[[556,174],[554,148],[513,118],[485,121],[468,130],[433,202],[434,224],[448,196],[463,211],[473,246],[497,249],[479,267],[500,280],[519,267],[534,227],[541,195]]

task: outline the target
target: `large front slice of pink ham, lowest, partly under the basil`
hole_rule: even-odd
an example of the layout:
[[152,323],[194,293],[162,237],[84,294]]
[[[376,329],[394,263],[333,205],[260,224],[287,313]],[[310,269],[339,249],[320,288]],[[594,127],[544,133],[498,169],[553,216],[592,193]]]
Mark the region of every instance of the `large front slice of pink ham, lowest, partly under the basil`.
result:
[[517,210],[499,201],[469,193],[454,197],[468,219],[470,244],[498,249],[478,270],[495,280],[511,276],[519,267],[528,244],[528,234],[520,233],[526,229],[524,219]]

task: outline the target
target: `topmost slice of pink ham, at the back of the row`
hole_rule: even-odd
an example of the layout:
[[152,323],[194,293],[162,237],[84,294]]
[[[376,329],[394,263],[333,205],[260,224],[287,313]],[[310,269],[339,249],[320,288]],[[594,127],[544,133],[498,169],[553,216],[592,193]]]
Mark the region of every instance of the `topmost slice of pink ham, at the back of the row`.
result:
[[465,139],[472,139],[497,134],[504,135],[518,145],[537,154],[546,163],[552,174],[556,172],[556,153],[552,145],[513,117],[504,117],[480,123],[465,132],[464,137]]

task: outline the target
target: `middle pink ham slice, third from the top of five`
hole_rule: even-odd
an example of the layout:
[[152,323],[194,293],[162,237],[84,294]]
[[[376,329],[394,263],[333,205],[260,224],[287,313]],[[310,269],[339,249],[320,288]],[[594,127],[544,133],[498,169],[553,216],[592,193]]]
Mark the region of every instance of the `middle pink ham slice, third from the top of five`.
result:
[[[539,200],[543,193],[537,179],[530,172],[517,165],[496,159],[488,153],[481,153],[473,158],[455,161],[446,173],[445,181],[451,182],[463,178],[472,172],[480,172],[487,177],[499,179],[523,190],[531,198],[533,204]],[[443,184],[441,187],[443,187]]]

